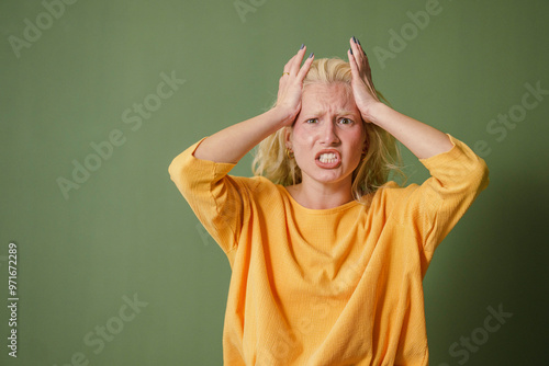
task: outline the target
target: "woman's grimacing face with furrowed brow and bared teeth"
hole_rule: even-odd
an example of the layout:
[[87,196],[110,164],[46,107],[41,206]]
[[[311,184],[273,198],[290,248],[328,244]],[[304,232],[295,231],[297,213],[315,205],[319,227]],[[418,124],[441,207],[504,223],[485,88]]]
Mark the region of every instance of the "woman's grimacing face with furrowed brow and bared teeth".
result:
[[306,85],[301,112],[285,139],[302,171],[303,183],[313,180],[348,183],[350,187],[366,141],[350,87],[341,82]]

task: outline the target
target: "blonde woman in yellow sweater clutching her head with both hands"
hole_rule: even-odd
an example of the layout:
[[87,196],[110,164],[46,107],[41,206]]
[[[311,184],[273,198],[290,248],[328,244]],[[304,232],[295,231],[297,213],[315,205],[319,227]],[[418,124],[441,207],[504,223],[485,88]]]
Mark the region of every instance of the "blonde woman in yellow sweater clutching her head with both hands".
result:
[[[427,365],[422,281],[486,165],[381,103],[355,37],[349,62],[304,55],[271,110],[169,168],[231,263],[224,364]],[[422,185],[388,182],[395,138],[429,170]],[[258,144],[258,175],[228,175]]]

